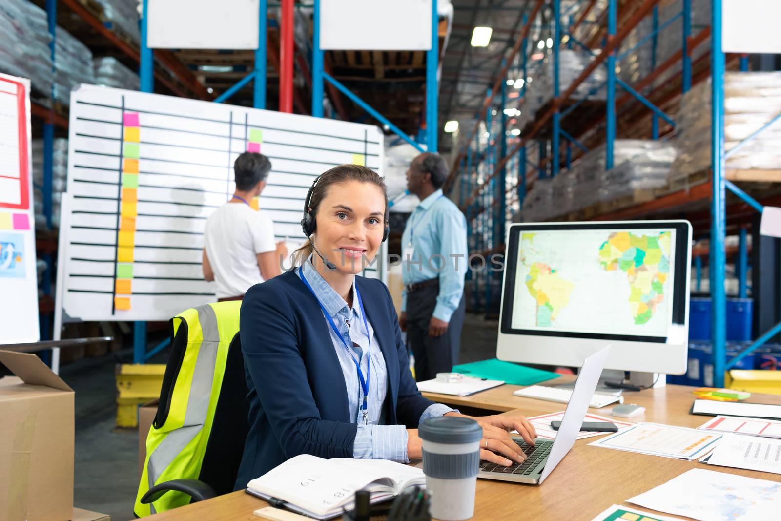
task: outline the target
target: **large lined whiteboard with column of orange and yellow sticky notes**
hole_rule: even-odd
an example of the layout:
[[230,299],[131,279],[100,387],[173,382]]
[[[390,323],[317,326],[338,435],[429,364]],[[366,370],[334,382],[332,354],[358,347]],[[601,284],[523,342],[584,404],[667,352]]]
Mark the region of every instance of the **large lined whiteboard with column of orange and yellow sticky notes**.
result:
[[[271,159],[259,207],[291,252],[305,241],[304,198],[320,173],[363,163],[382,175],[378,127],[92,85],[73,91],[58,277],[66,321],[166,320],[214,302],[201,273],[203,229],[233,194],[233,164],[246,150]],[[366,277],[383,278],[384,256],[383,244]]]

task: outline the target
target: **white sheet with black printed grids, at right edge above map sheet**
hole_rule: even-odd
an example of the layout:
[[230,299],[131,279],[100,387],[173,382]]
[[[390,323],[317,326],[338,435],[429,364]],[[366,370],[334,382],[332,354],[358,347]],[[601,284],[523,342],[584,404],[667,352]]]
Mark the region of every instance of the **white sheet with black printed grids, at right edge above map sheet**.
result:
[[781,441],[725,434],[708,459],[708,465],[781,474]]

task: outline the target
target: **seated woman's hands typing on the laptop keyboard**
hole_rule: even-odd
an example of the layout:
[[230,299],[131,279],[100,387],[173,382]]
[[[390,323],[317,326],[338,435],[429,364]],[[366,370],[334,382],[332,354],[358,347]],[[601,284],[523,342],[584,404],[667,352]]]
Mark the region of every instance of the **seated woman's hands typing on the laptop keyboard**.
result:
[[[448,412],[446,416],[456,416]],[[458,415],[464,416],[464,415]],[[534,426],[523,416],[466,416],[483,427],[483,439],[480,441],[480,459],[499,465],[509,466],[512,462],[523,462],[526,455],[523,449],[512,439],[508,430],[518,430],[528,444],[534,444],[537,432]]]

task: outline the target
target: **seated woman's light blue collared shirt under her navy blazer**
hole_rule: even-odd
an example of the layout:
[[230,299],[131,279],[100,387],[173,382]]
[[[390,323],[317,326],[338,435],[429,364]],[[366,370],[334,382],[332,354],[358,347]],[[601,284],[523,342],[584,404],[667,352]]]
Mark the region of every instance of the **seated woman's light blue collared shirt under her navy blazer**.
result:
[[[308,259],[302,266],[304,277],[315,292],[315,296],[323,304],[326,312],[333,319],[339,333],[344,337],[344,341],[352,346],[352,355],[358,360],[361,371],[364,376],[369,373],[369,400],[367,419],[368,425],[363,423],[363,412],[359,405],[362,405],[363,391],[361,383],[358,380],[358,370],[355,368],[350,353],[344,348],[337,334],[333,332],[330,324],[326,320],[328,331],[331,335],[333,348],[337,351],[339,364],[344,375],[344,384],[347,387],[348,407],[350,416],[358,423],[358,433],[355,434],[355,444],[353,444],[353,456],[359,459],[390,459],[394,462],[406,463],[407,458],[407,428],[403,425],[384,425],[385,415],[383,415],[383,404],[387,394],[387,367],[380,344],[374,334],[374,328],[369,319],[366,319],[366,327],[369,328],[367,336],[363,327],[363,317],[361,308],[358,305],[348,306],[347,302],[334,291],[333,287],[326,282],[323,277],[317,273],[315,266],[312,266],[312,260]],[[301,272],[296,269],[298,277]],[[352,283],[352,294],[355,295],[355,280]],[[355,298],[354,304],[358,303]],[[371,303],[368,303],[371,305]],[[366,302],[364,303],[366,305]],[[372,369],[369,372],[369,338],[372,339],[371,359]],[[357,344],[357,345],[356,345]],[[433,404],[429,405],[420,416],[422,422],[426,418],[433,416],[442,416],[446,412],[453,412],[447,405]]]

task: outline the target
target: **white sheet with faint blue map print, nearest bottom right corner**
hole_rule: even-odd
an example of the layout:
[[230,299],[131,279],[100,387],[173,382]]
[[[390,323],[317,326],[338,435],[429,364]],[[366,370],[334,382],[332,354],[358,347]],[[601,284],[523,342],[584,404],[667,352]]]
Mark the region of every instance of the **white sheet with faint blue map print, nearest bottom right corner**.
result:
[[691,469],[626,501],[701,521],[778,519],[781,484],[768,480]]

